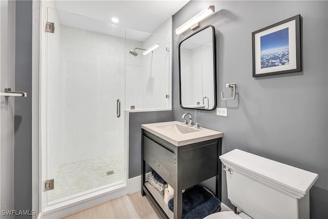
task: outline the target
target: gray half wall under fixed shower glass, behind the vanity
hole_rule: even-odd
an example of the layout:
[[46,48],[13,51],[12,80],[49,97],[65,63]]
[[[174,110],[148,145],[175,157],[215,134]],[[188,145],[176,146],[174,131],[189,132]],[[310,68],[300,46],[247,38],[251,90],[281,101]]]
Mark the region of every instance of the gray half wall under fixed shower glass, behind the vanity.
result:
[[168,122],[173,112],[131,112],[129,118],[129,178],[141,175],[141,124]]

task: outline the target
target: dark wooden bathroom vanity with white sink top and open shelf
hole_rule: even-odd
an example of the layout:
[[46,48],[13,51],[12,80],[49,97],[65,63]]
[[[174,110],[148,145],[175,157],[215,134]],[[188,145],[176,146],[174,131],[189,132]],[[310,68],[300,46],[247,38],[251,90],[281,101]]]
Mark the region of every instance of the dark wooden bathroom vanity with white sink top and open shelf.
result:
[[[181,122],[141,125],[141,194],[166,218],[181,218],[182,190],[216,176],[216,197],[221,200],[222,132],[194,128]],[[146,164],[174,189],[174,213],[152,185],[146,182]]]

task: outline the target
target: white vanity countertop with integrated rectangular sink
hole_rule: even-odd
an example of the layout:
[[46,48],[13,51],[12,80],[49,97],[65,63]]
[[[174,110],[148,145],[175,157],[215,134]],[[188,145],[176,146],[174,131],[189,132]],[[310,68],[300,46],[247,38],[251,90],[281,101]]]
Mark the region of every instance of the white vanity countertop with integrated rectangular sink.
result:
[[202,127],[194,128],[193,126],[188,126],[178,121],[142,124],[141,128],[161,137],[163,140],[175,146],[189,145],[223,137],[222,132]]

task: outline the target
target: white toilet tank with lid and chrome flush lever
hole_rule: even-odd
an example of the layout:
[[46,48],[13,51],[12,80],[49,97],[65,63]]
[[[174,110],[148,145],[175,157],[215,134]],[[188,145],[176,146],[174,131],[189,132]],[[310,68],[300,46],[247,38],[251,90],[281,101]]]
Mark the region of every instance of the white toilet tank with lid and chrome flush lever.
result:
[[235,149],[220,156],[228,198],[253,218],[310,218],[318,174]]

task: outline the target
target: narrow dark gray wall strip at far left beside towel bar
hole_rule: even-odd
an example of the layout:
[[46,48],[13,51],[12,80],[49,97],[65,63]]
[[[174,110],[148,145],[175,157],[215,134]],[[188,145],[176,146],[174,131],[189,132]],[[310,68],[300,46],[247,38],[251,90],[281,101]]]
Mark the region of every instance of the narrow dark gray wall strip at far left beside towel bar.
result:
[[15,209],[32,210],[32,1],[16,1],[15,89]]

